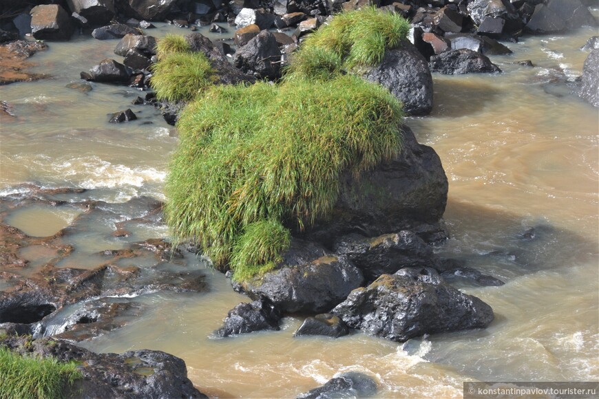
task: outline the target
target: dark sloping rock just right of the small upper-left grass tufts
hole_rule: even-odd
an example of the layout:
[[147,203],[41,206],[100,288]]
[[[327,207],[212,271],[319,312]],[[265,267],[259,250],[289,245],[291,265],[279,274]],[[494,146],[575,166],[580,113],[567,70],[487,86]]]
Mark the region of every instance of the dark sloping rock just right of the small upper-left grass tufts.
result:
[[191,45],[191,50],[203,52],[209,59],[212,67],[216,71],[219,83],[222,85],[233,85],[235,83],[249,82],[253,83],[255,78],[249,74],[244,74],[239,69],[233,67],[227,56],[222,54],[210,39],[199,33],[191,33],[186,36]]

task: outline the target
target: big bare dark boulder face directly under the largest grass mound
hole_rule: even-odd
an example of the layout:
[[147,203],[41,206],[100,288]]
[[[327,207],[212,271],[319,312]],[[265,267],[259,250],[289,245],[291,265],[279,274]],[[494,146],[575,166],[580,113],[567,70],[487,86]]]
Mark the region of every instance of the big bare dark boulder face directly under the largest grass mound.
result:
[[427,242],[446,233],[440,219],[447,204],[448,181],[434,149],[419,144],[403,126],[403,151],[356,178],[340,177],[339,197],[330,217],[318,219],[295,235],[332,247],[343,235],[364,237],[411,230]]

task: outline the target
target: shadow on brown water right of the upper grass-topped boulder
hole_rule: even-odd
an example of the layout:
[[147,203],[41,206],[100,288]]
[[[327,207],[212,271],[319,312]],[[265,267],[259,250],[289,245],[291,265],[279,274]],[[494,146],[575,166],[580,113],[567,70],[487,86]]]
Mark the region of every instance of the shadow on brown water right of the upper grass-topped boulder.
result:
[[430,116],[459,118],[476,114],[492,104],[500,91],[468,76],[434,76],[433,107]]

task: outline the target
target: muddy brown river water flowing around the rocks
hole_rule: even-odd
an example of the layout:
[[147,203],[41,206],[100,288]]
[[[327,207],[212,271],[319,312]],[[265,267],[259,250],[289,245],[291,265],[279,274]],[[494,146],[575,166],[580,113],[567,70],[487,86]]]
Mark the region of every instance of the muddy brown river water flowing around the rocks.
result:
[[[147,34],[172,31],[186,33],[160,25]],[[185,360],[200,391],[218,398],[292,398],[343,371],[375,378],[381,398],[460,397],[463,381],[473,380],[598,380],[599,113],[571,94],[588,54],[580,47],[596,34],[582,28],[505,43],[514,54],[491,56],[503,74],[434,74],[432,114],[406,119],[419,142],[439,153],[450,182],[445,222],[451,238],[437,252],[506,282],[458,285],[494,309],[487,329],[406,344],[361,332],[293,338],[302,323],[297,316],[286,317],[279,332],[215,339],[211,332],[227,311],[249,299],[187,254],[185,268],[205,270],[208,292],[139,296],[148,305],[142,316],[80,345],[96,352],[169,352]],[[103,58],[119,60],[116,43],[83,36],[49,43],[29,62],[36,65],[32,72],[50,78],[0,87],[0,100],[14,114],[0,119],[0,195],[27,191],[22,184],[32,183],[87,189],[65,196],[72,202],[165,200],[169,153],[178,139],[154,107],[132,105],[144,93],[100,83],[91,83],[91,91],[67,87]],[[523,60],[535,66],[515,63]],[[109,114],[127,108],[138,120],[108,122]],[[167,236],[154,222],[114,237],[114,223],[136,217],[126,213],[80,223],[85,228],[68,238],[73,256],[59,266],[92,268],[100,250]],[[67,206],[32,205],[5,222],[46,236],[80,215]],[[530,228],[535,239],[523,239]],[[43,250],[21,255],[30,260],[23,274],[43,265]],[[7,287],[0,281],[0,290]]]

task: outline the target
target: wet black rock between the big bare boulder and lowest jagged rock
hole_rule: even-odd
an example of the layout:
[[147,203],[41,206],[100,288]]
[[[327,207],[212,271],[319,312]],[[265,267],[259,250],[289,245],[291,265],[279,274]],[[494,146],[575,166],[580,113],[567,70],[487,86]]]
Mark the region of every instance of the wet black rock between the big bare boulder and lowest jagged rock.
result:
[[374,281],[381,274],[393,274],[401,268],[434,263],[432,247],[409,230],[373,238],[357,234],[340,237],[333,250],[338,255],[346,255],[362,270],[366,281]]

